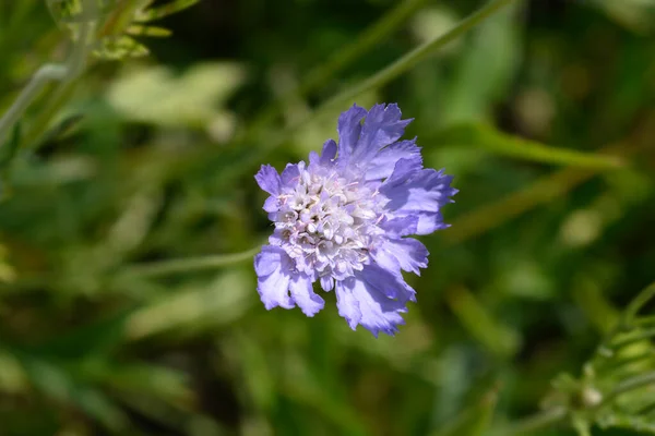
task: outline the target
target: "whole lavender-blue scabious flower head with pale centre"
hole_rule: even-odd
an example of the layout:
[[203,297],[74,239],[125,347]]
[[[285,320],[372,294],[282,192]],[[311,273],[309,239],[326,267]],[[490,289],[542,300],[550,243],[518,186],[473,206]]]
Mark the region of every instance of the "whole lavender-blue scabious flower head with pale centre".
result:
[[416,301],[402,271],[428,265],[425,245],[406,237],[448,227],[441,207],[457,192],[451,175],[422,167],[416,138],[400,141],[410,122],[397,105],[354,105],[338,119],[338,145],[326,141],[309,165],[288,164],[282,174],[262,166],[255,180],[271,194],[264,210],[275,230],[254,269],[267,310],[315,315],[325,304],[313,290],[319,281],[334,289],[352,329],[398,331]]

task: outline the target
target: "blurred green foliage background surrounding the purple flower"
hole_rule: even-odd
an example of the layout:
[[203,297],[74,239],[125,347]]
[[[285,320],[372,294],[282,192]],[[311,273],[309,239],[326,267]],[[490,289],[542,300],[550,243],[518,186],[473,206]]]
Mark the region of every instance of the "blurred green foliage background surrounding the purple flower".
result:
[[[265,311],[252,253],[140,266],[261,244],[259,165],[306,159],[349,106],[321,101],[483,3],[202,0],[139,38],[151,56],[93,62],[3,174],[0,435],[478,435],[579,377],[655,279],[650,0],[516,1],[355,99],[397,101],[461,191],[396,337],[352,331],[333,294]],[[68,47],[43,1],[0,0],[0,108]],[[624,165],[515,153],[531,141]]]

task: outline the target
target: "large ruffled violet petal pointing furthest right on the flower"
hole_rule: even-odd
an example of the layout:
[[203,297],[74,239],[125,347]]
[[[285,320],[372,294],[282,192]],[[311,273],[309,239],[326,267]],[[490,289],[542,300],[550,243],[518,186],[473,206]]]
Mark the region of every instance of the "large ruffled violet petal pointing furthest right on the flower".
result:
[[401,159],[380,193],[389,198],[385,205],[392,218],[418,217],[416,234],[429,234],[448,227],[443,223],[441,207],[453,203],[457,190],[451,187],[452,175],[443,170],[417,168],[409,159]]

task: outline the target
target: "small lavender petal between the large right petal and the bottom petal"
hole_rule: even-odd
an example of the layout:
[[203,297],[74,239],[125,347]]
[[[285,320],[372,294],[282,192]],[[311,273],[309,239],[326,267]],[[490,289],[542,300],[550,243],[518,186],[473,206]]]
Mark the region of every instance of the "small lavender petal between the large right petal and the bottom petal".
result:
[[373,259],[383,268],[396,274],[401,269],[420,276],[419,268],[428,266],[428,249],[413,238],[386,240],[371,252]]

